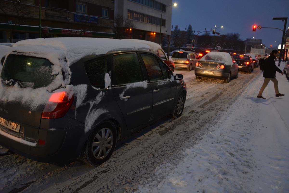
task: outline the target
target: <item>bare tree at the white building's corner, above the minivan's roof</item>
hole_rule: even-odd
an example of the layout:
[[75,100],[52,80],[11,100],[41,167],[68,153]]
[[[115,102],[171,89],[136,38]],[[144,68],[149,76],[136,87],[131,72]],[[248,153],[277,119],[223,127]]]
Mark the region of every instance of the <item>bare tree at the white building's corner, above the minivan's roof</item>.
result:
[[135,25],[133,21],[123,18],[121,15],[116,15],[114,18],[114,27],[112,32],[115,34],[116,39],[123,39],[127,36],[129,29],[134,29]]

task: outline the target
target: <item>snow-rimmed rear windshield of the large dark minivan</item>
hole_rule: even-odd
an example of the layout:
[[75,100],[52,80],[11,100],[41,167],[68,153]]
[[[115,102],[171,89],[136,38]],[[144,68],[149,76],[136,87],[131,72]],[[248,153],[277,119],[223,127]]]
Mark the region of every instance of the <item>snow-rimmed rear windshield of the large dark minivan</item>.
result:
[[44,58],[10,54],[3,66],[1,79],[16,82],[21,87],[48,86],[56,75],[51,75],[53,64]]

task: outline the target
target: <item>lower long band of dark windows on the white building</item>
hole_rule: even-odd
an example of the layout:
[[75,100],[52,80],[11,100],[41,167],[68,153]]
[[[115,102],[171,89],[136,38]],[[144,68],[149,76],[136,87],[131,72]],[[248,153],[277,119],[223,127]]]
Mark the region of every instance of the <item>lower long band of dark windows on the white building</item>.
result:
[[[132,10],[127,10],[127,18],[132,19],[132,20],[136,20],[136,21],[142,21],[145,23],[161,25],[161,19],[160,18],[151,16],[151,15],[147,15],[144,13],[139,13],[139,12],[132,11]],[[166,27],[166,20],[165,19],[162,19],[162,26]]]

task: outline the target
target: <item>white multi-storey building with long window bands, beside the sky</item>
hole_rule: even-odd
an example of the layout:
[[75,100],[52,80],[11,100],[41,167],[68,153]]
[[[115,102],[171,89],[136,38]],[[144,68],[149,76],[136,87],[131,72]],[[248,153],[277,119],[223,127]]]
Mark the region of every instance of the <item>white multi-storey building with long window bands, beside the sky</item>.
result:
[[172,0],[116,0],[114,6],[115,17],[134,25],[125,38],[160,43],[160,33],[162,38],[171,35]]

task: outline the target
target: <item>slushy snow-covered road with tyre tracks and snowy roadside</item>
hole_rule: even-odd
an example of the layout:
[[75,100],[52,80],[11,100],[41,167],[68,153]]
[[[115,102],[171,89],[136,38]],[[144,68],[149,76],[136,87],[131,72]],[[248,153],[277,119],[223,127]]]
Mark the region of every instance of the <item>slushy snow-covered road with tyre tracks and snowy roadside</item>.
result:
[[0,192],[288,192],[288,118],[278,114],[288,110],[280,98],[255,98],[261,71],[240,72],[229,84],[175,73],[188,89],[180,118],[165,117],[119,142],[97,168],[1,156]]

